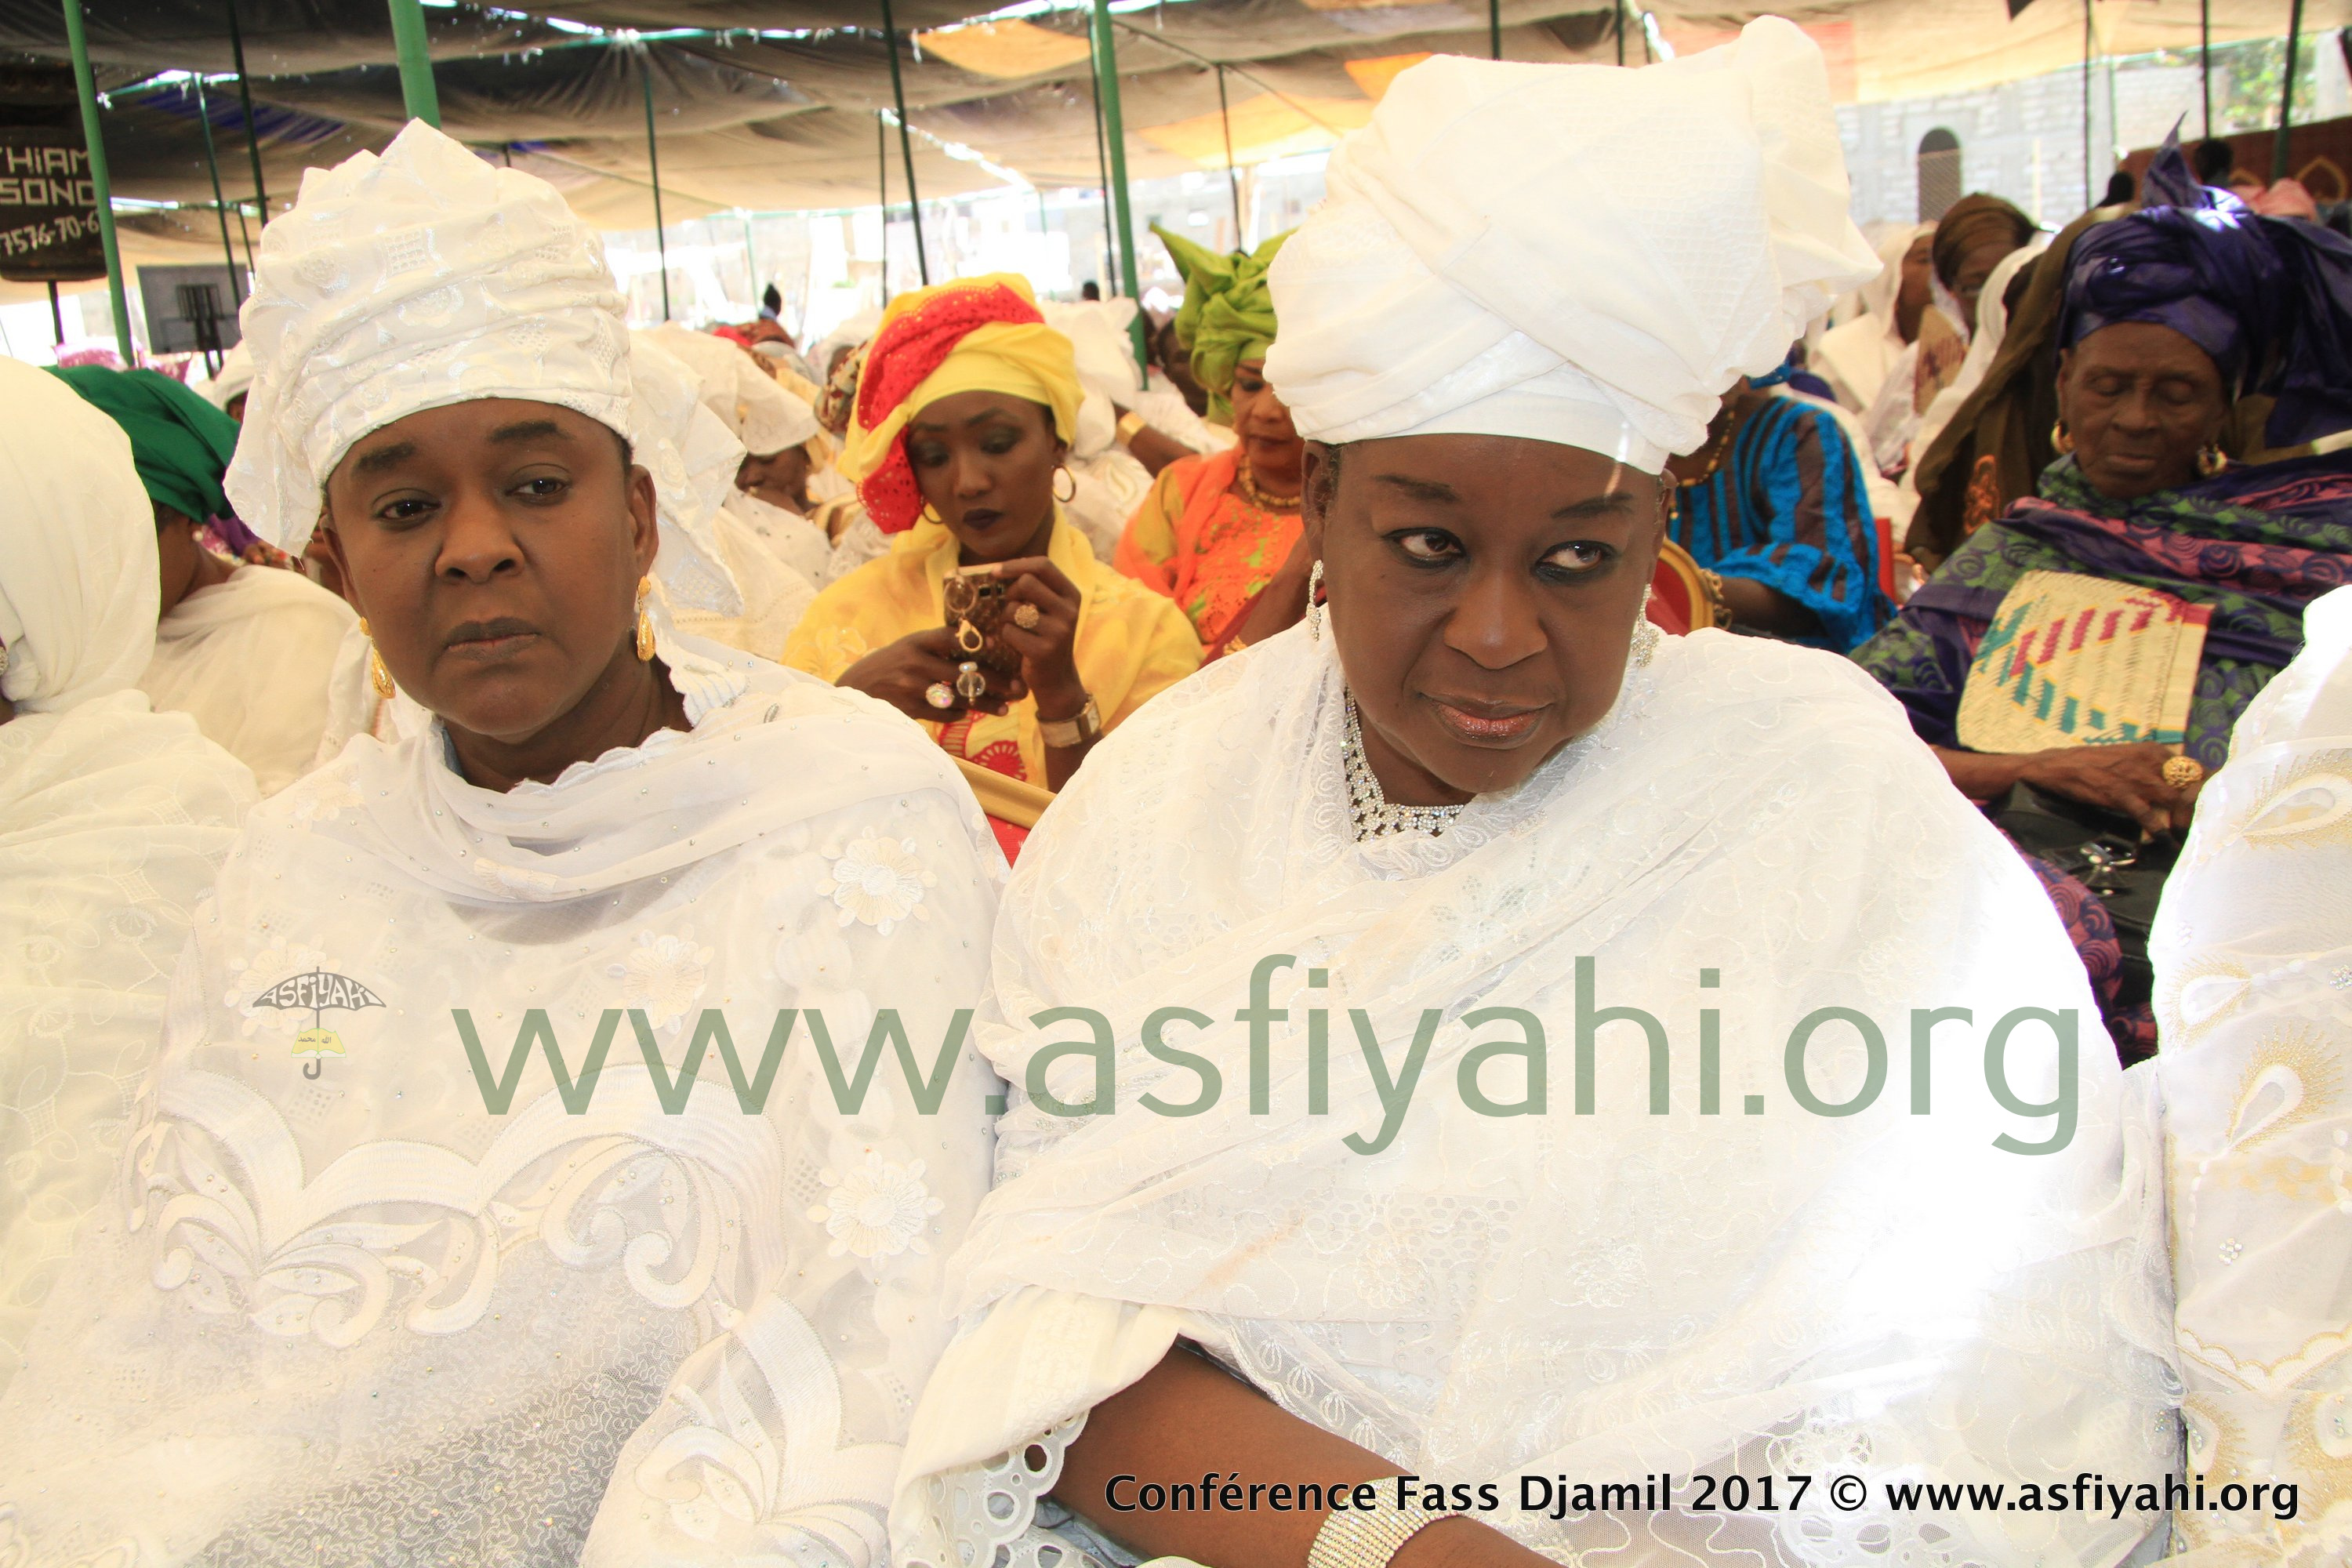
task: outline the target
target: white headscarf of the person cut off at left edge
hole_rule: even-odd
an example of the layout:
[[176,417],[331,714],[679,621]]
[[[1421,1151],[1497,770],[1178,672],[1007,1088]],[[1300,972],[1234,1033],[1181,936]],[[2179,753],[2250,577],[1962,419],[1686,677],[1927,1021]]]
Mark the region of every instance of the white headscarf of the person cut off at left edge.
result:
[[155,654],[155,508],[122,425],[0,360],[0,693],[64,712],[139,682]]

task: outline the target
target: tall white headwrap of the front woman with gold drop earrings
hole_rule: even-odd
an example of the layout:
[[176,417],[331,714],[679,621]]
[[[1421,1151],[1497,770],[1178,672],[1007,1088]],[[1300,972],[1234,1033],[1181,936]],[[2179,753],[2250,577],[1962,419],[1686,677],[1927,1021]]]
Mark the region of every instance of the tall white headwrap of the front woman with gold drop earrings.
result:
[[482,162],[421,120],[383,155],[303,174],[261,230],[238,315],[254,355],[228,465],[238,517],[299,552],[353,442],[421,409],[524,397],[628,437],[654,475],[654,574],[682,602],[734,614],[708,508],[633,395],[604,247],[546,181]]

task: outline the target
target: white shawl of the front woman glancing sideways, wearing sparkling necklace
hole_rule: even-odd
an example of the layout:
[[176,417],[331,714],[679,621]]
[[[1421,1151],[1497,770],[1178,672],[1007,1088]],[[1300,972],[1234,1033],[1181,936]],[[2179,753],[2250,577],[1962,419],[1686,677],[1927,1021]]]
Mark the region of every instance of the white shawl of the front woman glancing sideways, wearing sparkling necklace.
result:
[[[1061,1119],[1016,1093],[1000,1185],[955,1260],[967,1335],[924,1394],[891,1516],[903,1563],[988,1561],[1054,1481],[1025,1443],[1124,1387],[1176,1333],[1291,1413],[1449,1481],[1832,1472],[1870,1479],[2161,1474],[2169,1408],[2161,1237],[2145,1124],[2049,900],[1950,788],[1900,710],[1846,661],[1703,632],[1628,675],[1611,717],[1439,839],[1357,846],[1341,785],[1341,672],[1303,630],[1164,693],[1087,759],[1021,853],[997,924],[1002,1016],[1101,1009],[1115,1114]],[[1268,1093],[1249,1114],[1237,1009],[1275,976]],[[1602,1006],[1639,1006],[1672,1044],[1672,1105],[1649,1114],[1635,1025],[1599,1034],[1597,1114],[1573,1114],[1576,959]],[[1310,969],[1329,985],[1308,990]],[[1719,987],[1700,990],[1703,971]],[[1319,978],[1319,976],[1315,976]],[[1192,1006],[1138,1048],[1152,1009]],[[1329,1013],[1329,1114],[1305,1114],[1301,1032]],[[1392,1147],[1348,1011],[1397,1067],[1437,1030]],[[1534,1011],[1550,1112],[1465,1110],[1465,1009]],[[1790,1027],[1860,1009],[1886,1037],[1877,1105],[1830,1119],[1783,1084]],[[1910,1110],[1910,1009],[1971,1006],[1933,1051],[1933,1114]],[[1992,1147],[2046,1121],[1999,1112],[1983,1034],[2018,1006],[2082,1027],[2079,1128],[2058,1154]],[[1722,1011],[1722,1114],[1700,1114],[1698,1011]],[[995,1027],[1018,1086],[1084,1025]],[[1846,1100],[1863,1051],[1811,1044],[1811,1084]],[[2009,1084],[2049,1098],[2046,1030],[2009,1044]],[[1051,1063],[1087,1100],[1094,1065]],[[1489,1065],[1515,1100],[1524,1070]],[[1762,1095],[1762,1114],[1740,1114]],[[1056,1439],[1044,1448],[1054,1450]],[[1014,1458],[1007,1460],[1004,1455]],[[1254,1476],[1258,1479],[1258,1476]],[[1263,1476],[1268,1481],[1279,1476]],[[1682,1493],[1689,1500],[1689,1490]],[[1839,1514],[1816,1488],[1778,1519],[1494,1519],[1559,1561],[2110,1563],[2150,1530],[2082,1514]],[[1778,1526],[1776,1537],[1764,1537]],[[1035,1542],[1035,1535],[1028,1537]],[[953,1542],[953,1544],[950,1544]],[[1677,1556],[1672,1547],[1691,1556]],[[1759,1556],[1729,1561],[1755,1563]]]

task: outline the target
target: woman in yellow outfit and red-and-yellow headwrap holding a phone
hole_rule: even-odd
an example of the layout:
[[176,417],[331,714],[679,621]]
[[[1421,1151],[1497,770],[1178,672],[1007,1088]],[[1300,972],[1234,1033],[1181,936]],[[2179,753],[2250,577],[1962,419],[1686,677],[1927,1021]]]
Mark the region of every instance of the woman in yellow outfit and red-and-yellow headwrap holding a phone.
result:
[[[1061,517],[1054,484],[1080,397],[1070,341],[1021,277],[894,299],[840,456],[891,550],[816,595],[786,663],[898,708],[955,757],[1047,790],[1200,668],[1183,611],[1098,562]],[[993,635],[1018,675],[964,670],[974,661],[948,628],[946,590],[971,567],[995,567],[1007,585]]]

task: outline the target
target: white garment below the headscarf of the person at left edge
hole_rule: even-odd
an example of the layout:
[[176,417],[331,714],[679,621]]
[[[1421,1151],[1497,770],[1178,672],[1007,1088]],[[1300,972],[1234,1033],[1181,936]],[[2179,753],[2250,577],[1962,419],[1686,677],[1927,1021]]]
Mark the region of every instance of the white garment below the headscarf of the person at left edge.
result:
[[0,1389],[106,1192],[252,804],[245,764],[136,691],[0,724]]

